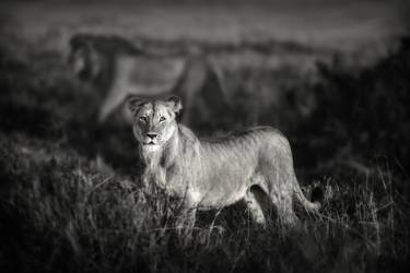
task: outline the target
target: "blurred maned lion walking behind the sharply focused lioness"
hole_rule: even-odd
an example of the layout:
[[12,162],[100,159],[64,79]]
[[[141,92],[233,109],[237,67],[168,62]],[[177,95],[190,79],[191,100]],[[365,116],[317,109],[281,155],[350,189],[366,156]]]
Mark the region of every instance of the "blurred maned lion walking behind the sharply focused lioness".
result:
[[[129,95],[175,93],[184,99],[183,122],[214,124],[230,109],[220,73],[202,55],[149,52],[118,36],[77,34],[70,39],[69,64],[74,74],[101,92],[98,121],[103,123]],[[122,120],[131,115],[122,107]]]

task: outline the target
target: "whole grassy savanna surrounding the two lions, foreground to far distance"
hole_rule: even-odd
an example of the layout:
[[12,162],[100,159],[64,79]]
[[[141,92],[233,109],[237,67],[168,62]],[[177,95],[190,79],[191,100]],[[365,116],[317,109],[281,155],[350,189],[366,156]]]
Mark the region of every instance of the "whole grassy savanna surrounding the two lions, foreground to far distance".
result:
[[[0,5],[1,272],[407,271],[405,2],[232,2]],[[239,203],[178,235],[179,201],[139,187],[130,128],[109,120],[96,135],[97,95],[66,64],[77,32],[204,51],[237,108],[223,118],[281,129],[305,193],[325,195],[320,214],[296,207],[300,228],[284,230],[272,212],[262,229]]]

